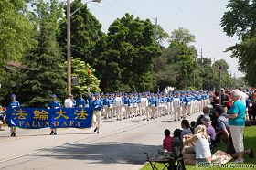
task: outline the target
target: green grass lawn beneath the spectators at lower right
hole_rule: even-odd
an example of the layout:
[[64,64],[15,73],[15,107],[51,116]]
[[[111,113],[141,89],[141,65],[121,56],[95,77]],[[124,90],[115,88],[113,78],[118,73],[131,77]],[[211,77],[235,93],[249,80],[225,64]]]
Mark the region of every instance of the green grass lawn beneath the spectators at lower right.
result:
[[[247,170],[247,169],[256,169],[256,126],[251,126],[251,127],[245,127],[245,132],[244,132],[244,145],[245,145],[245,149],[247,148],[252,148],[255,157],[254,158],[249,158],[247,155],[244,156],[245,159],[245,163],[244,164],[240,164],[242,167],[236,167],[234,166],[235,164],[233,163],[229,163],[227,164],[227,166],[229,167],[198,167],[198,166],[192,166],[192,165],[186,165],[186,169],[187,170],[202,170],[202,169],[219,169],[219,170],[228,170],[228,169],[240,169],[240,170]],[[224,144],[220,144],[219,148],[217,148],[217,150],[222,150],[225,151],[225,145]],[[245,165],[247,165],[247,167],[244,167]],[[164,167],[164,165],[162,164],[156,164],[158,169],[162,169]],[[144,165],[143,168],[141,168],[141,170],[149,170],[152,169],[151,165],[148,163],[146,165]]]

